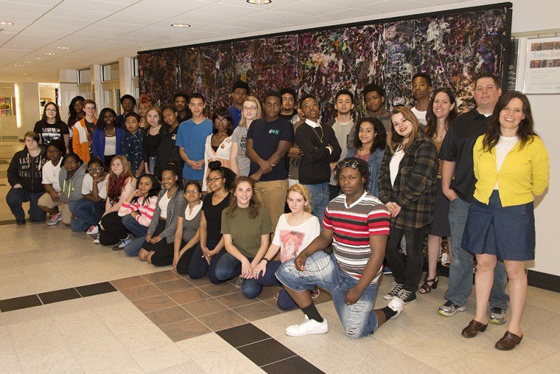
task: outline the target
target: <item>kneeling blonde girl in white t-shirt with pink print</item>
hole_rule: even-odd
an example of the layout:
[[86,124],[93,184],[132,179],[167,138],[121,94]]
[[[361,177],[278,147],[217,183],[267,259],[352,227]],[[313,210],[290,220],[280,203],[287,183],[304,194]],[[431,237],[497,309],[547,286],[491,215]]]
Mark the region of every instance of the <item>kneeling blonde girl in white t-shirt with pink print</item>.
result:
[[[246,297],[259,296],[262,286],[281,285],[274,275],[280,264],[295,258],[321,233],[319,220],[311,214],[310,201],[309,191],[302,184],[295,184],[288,188],[286,202],[288,202],[291,213],[280,216],[272,244],[255,266],[253,277],[245,279],[243,293]],[[280,261],[272,261],[279,249]],[[318,289],[316,290],[318,296]],[[290,310],[296,306],[295,301],[290,298],[285,289],[278,293],[277,299],[281,310]]]

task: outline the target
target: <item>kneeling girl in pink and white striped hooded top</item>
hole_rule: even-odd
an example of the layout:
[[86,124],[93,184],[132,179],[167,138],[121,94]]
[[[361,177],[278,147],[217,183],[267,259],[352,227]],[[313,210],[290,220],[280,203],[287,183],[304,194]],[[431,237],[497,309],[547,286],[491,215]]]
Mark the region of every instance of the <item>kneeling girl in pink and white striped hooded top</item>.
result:
[[120,219],[121,226],[136,237],[135,240],[132,240],[129,235],[116,247],[117,249],[124,248],[127,256],[138,256],[140,248],[146,240],[148,226],[152,223],[155,203],[158,201],[161,189],[160,181],[152,174],[141,176],[136,191],[131,193],[118,209],[118,215],[123,217]]

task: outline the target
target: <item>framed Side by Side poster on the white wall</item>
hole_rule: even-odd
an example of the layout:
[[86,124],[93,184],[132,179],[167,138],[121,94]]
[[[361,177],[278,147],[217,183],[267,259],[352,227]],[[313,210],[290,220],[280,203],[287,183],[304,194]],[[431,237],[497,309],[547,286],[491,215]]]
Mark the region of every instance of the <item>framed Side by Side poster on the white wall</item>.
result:
[[527,39],[523,92],[560,93],[560,36]]

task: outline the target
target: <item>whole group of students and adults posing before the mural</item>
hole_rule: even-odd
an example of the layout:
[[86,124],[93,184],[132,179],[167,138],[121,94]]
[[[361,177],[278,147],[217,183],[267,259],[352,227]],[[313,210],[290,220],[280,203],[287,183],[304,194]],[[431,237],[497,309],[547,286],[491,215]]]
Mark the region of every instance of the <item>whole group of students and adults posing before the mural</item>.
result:
[[[162,111],[146,105],[149,127],[142,132],[134,98],[123,97],[122,119],[104,109],[91,138],[80,130],[95,123],[84,100],[85,115],[73,125],[74,152],[64,155],[60,139],[45,149],[38,144],[44,134],[25,135],[26,148],[8,169],[8,205],[25,223],[21,202],[31,200],[31,220],[48,212],[49,224],[62,219],[98,234],[100,244],[192,278],[220,283],[240,276],[248,298],[281,284],[279,307],[297,305],[305,314],[288,335],[328,331],[312,301],[317,287],[331,293],[349,336],[373,333],[416,301],[416,291],[437,287],[441,237],[450,237],[449,289],[438,312],[450,317],[466,309],[476,256],[477,314],[463,336],[484,331],[489,320],[505,323],[507,272],[510,324],[496,348],[513,349],[522,338],[524,261],[534,258],[533,195],[543,193],[549,177],[531,106],[520,92],[501,95],[491,74],[477,76],[476,106],[460,116],[453,91],[433,90],[427,74],[413,77],[412,92],[412,109],[386,111],[384,90],[367,85],[367,116],[354,123],[353,94],[340,90],[337,115],[321,123],[314,95],[297,101],[290,89],[267,92],[261,106],[238,81],[234,104],[214,111],[213,120],[204,116],[202,95],[176,95],[176,106]],[[187,103],[190,118],[179,125]],[[121,148],[138,132],[139,147],[154,147],[140,151],[144,168],[107,140],[118,130]],[[86,148],[82,140],[93,143],[96,134],[104,147],[99,140]],[[148,141],[156,136],[169,139],[167,146]],[[420,285],[426,235],[428,272]],[[394,282],[384,295],[388,306],[372,310],[384,260]]]

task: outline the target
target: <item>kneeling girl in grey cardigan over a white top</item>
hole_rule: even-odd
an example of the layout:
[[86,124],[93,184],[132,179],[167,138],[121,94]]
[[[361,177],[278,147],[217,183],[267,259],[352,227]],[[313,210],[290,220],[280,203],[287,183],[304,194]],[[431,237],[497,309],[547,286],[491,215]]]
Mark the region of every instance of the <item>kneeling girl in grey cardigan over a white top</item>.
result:
[[155,266],[172,264],[173,254],[169,256],[169,251],[166,251],[165,247],[174,241],[177,215],[185,205],[181,182],[177,165],[174,162],[167,162],[162,172],[164,188],[158,196],[146,240],[138,254],[141,261],[148,261]]

